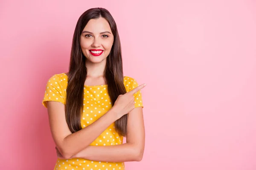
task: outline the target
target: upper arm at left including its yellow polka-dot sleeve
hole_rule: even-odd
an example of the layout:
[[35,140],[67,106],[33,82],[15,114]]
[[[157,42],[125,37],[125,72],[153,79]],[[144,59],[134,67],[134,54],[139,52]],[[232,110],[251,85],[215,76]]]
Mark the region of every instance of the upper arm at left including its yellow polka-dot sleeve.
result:
[[65,115],[65,91],[58,76],[52,76],[46,85],[42,104],[47,108],[52,138],[62,152],[64,138],[71,134]]

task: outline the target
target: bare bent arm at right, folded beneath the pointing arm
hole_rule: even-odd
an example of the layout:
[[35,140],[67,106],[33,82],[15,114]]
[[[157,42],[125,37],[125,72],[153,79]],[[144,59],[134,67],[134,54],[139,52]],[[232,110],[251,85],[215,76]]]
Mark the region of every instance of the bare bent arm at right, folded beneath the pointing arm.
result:
[[127,138],[125,144],[111,146],[87,146],[71,158],[94,161],[141,161],[145,144],[145,129],[142,108],[128,113]]

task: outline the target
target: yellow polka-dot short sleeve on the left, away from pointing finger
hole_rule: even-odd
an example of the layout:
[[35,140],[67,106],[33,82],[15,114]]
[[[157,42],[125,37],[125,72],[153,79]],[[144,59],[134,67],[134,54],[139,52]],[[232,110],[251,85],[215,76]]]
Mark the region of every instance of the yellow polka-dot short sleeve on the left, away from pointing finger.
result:
[[64,102],[64,91],[60,79],[53,75],[47,82],[42,104],[47,108],[47,101]]

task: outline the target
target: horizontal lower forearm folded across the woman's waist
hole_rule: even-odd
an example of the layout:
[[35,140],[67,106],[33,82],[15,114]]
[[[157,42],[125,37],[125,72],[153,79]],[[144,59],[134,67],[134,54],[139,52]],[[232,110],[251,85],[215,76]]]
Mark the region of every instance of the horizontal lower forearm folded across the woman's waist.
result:
[[143,150],[135,144],[125,143],[111,146],[88,146],[73,158],[84,158],[93,161],[125,162],[140,161]]

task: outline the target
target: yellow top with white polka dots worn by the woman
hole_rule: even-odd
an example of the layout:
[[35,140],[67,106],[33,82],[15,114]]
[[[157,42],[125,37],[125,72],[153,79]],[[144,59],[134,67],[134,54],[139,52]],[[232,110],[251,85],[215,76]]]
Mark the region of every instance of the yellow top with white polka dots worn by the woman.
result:
[[[67,75],[65,73],[53,75],[47,82],[42,104],[47,108],[47,101],[66,104]],[[137,81],[131,77],[124,77],[126,91],[131,91],[138,86]],[[84,108],[81,117],[82,128],[95,122],[112,107],[107,93],[108,85],[88,86],[84,85]],[[135,108],[143,107],[141,91],[134,94]],[[109,146],[122,144],[123,136],[116,132],[112,123],[95,141],[92,146]],[[54,170],[124,170],[124,162],[101,162],[75,159],[57,159]]]

